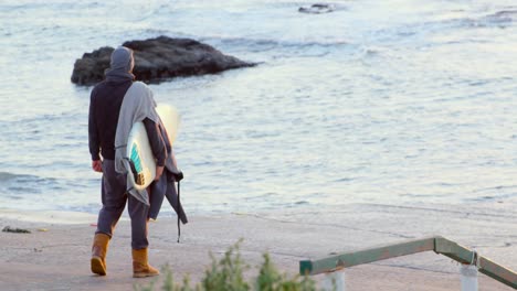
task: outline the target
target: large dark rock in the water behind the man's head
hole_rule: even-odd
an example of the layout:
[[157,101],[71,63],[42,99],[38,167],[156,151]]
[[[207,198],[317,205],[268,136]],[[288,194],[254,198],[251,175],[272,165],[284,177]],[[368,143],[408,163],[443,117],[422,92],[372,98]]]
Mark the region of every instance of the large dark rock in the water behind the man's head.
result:
[[[134,51],[136,79],[159,83],[178,76],[215,74],[256,64],[224,55],[208,44],[190,39],[159,36],[123,44]],[[75,61],[72,83],[93,85],[104,79],[113,47],[101,47]]]

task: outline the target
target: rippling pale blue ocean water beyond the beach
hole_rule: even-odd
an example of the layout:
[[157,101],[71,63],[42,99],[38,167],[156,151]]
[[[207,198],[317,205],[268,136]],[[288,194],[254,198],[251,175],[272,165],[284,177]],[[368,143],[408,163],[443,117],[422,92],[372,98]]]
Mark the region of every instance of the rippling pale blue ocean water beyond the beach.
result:
[[313,3],[1,1],[0,208],[98,212],[74,62],[159,35],[260,63],[150,85],[188,213],[517,202],[515,1]]

